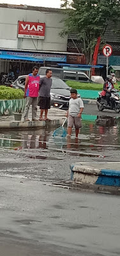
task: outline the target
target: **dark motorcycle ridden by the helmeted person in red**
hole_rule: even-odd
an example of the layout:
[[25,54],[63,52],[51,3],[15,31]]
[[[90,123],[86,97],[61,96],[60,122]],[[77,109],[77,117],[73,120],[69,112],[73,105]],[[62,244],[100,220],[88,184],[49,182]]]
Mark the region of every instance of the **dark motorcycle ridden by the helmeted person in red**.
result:
[[103,109],[111,109],[114,110],[116,113],[120,112],[120,100],[119,100],[119,90],[112,89],[110,90],[111,96],[110,96],[110,102],[109,105],[107,104],[107,100],[105,99],[105,96],[101,96],[101,93],[99,93],[99,97],[97,98],[96,104],[98,105],[99,111],[103,111]]

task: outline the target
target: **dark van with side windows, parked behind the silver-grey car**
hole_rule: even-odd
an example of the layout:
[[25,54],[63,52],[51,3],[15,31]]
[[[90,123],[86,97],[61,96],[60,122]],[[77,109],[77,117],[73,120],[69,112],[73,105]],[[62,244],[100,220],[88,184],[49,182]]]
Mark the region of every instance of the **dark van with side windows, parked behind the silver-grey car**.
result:
[[52,70],[52,75],[61,78],[62,80],[77,80],[80,82],[90,83],[91,79],[85,72],[80,72],[79,70],[64,70],[63,68],[55,67],[40,67],[38,74],[40,76],[45,76],[47,68]]

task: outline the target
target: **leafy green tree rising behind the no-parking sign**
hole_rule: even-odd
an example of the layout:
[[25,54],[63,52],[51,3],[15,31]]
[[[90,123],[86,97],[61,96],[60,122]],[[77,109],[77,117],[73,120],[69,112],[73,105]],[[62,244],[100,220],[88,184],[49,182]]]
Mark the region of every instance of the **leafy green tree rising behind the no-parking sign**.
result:
[[103,38],[110,20],[120,19],[119,0],[62,0],[66,17],[61,36],[77,33],[87,63],[91,63],[98,36]]

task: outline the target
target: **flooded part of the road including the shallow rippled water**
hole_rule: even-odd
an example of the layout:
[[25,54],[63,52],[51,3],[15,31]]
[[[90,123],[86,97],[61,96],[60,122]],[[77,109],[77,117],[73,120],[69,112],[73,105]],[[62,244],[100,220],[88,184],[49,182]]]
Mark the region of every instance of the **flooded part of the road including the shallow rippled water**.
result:
[[78,140],[74,130],[71,139],[54,138],[53,131],[1,131],[0,175],[70,180],[70,164],[75,162],[119,161],[119,117],[84,115]]

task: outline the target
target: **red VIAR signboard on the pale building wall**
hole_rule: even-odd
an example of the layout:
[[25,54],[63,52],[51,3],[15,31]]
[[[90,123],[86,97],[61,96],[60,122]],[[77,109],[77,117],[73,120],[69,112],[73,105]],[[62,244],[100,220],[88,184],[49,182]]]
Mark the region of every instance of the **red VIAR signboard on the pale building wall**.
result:
[[19,21],[18,37],[44,39],[45,23]]

